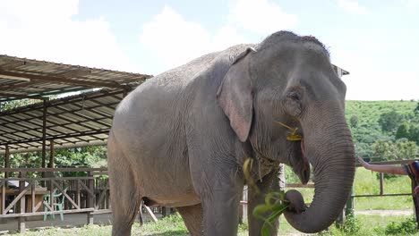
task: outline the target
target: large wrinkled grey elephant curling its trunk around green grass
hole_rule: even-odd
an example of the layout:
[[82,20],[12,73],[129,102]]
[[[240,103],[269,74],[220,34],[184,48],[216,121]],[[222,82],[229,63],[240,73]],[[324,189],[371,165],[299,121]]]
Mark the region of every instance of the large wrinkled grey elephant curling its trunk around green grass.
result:
[[[286,212],[286,220],[301,232],[326,229],[355,173],[345,93],[321,43],[291,32],[201,56],[146,81],[116,109],[108,139],[113,235],[131,233],[141,199],[175,206],[192,235],[235,235],[246,157],[254,160],[261,190],[250,190],[250,213],[264,193],[278,190],[278,163],[305,183],[310,162],[312,205]],[[275,121],[298,127],[307,158]],[[260,235],[261,224],[249,215],[249,234]]]

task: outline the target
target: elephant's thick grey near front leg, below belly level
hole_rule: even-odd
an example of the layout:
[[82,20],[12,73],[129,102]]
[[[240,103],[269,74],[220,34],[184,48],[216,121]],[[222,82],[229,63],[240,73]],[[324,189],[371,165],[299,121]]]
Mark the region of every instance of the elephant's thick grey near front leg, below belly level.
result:
[[233,170],[202,176],[204,235],[236,235],[244,181]]

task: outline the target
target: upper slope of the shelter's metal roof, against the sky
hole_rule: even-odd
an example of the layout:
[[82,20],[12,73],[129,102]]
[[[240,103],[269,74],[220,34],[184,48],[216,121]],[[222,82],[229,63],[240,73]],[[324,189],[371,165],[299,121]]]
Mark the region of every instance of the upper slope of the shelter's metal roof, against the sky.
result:
[[150,75],[0,55],[0,102],[92,88],[131,89]]

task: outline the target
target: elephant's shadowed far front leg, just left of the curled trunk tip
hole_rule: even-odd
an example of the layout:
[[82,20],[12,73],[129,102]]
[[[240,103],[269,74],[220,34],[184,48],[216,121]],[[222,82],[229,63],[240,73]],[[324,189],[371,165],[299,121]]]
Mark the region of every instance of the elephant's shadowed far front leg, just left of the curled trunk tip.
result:
[[[258,189],[261,191],[259,194],[254,190],[254,188],[248,188],[248,205],[247,205],[247,212],[248,212],[248,222],[249,222],[249,235],[256,236],[261,235],[261,227],[263,225],[263,221],[261,219],[255,218],[252,215],[253,209],[255,206],[263,204],[265,202],[265,195],[270,191],[278,191],[279,190],[279,180],[278,180],[278,172],[273,171],[268,175],[262,178],[262,181],[257,181],[256,185]],[[264,216],[268,216],[264,215]],[[278,232],[278,220],[273,223],[273,229],[270,228],[269,235],[277,235]]]

